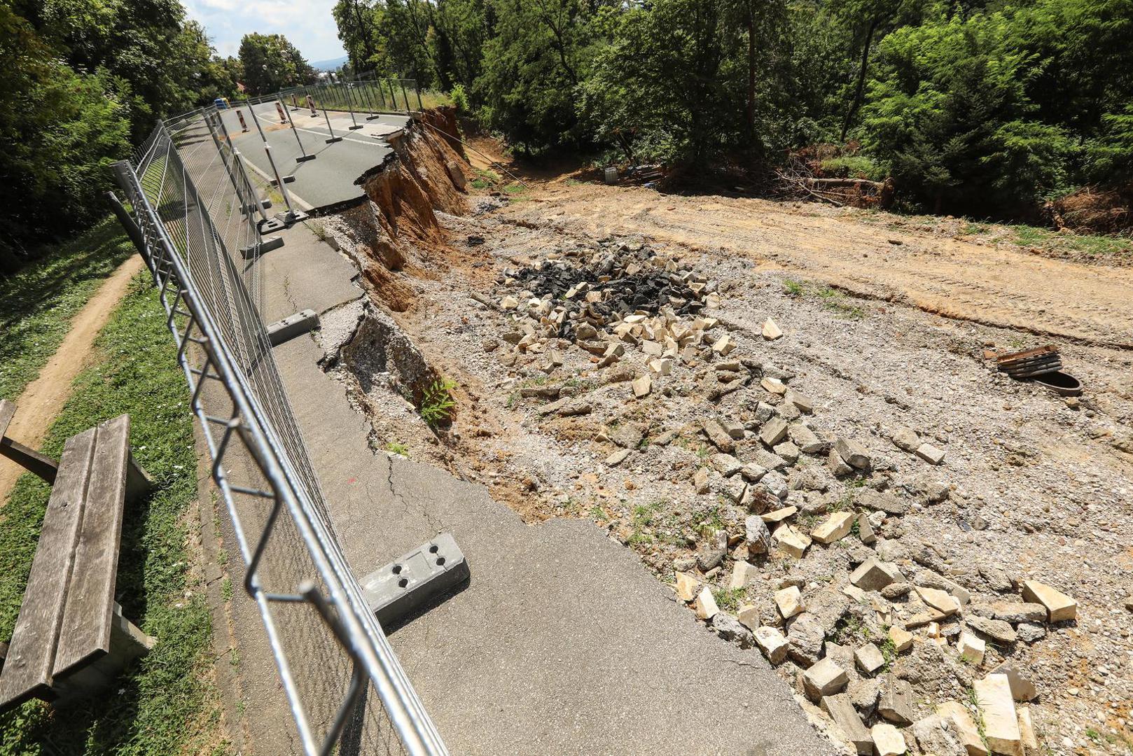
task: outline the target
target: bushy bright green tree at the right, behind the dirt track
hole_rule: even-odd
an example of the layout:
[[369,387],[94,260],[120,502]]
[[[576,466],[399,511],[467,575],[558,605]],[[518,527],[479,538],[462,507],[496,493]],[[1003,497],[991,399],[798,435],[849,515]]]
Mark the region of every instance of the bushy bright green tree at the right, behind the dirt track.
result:
[[867,150],[934,212],[987,215],[1063,186],[1075,150],[1026,95],[1032,54],[1002,14],[939,18],[889,34],[863,109]]

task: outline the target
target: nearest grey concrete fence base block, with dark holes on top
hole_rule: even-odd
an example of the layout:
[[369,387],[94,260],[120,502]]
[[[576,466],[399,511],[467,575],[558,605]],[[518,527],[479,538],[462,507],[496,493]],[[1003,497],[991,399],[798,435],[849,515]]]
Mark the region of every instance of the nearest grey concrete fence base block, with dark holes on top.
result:
[[363,597],[383,628],[395,627],[468,581],[465,554],[441,533],[360,580]]

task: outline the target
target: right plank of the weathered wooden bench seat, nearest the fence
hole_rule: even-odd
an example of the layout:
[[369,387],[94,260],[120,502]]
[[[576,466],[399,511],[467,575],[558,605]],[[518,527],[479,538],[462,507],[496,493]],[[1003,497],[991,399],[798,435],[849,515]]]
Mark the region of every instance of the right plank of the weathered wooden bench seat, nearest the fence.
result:
[[129,444],[129,416],[99,425],[83,527],[56,651],[56,677],[110,653]]

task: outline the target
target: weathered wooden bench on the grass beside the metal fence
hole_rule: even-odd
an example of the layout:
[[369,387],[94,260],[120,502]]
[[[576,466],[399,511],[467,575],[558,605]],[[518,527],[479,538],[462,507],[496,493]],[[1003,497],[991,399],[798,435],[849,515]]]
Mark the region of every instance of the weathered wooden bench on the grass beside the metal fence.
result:
[[[0,400],[0,453],[9,458],[12,447],[5,433],[15,409]],[[121,415],[63,445],[0,668],[0,711],[29,698],[66,703],[88,695],[155,643],[122,617],[114,601],[126,500],[150,486],[130,457],[129,432],[130,418]],[[44,459],[33,465],[42,467]]]

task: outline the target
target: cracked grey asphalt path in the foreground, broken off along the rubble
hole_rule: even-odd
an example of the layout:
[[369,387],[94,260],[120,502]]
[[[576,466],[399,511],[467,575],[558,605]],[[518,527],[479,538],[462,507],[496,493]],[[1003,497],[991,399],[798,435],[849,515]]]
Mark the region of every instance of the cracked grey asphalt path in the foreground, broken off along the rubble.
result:
[[[326,341],[348,338],[352,264],[303,226],[284,238],[258,263],[264,318],[333,311]],[[480,485],[375,453],[368,422],[320,367],[321,338],[274,352],[356,575],[438,532],[471,569],[465,589],[391,635],[452,753],[835,753],[759,654],[700,627],[593,524],[528,526]],[[280,742],[278,721],[250,725]]]

